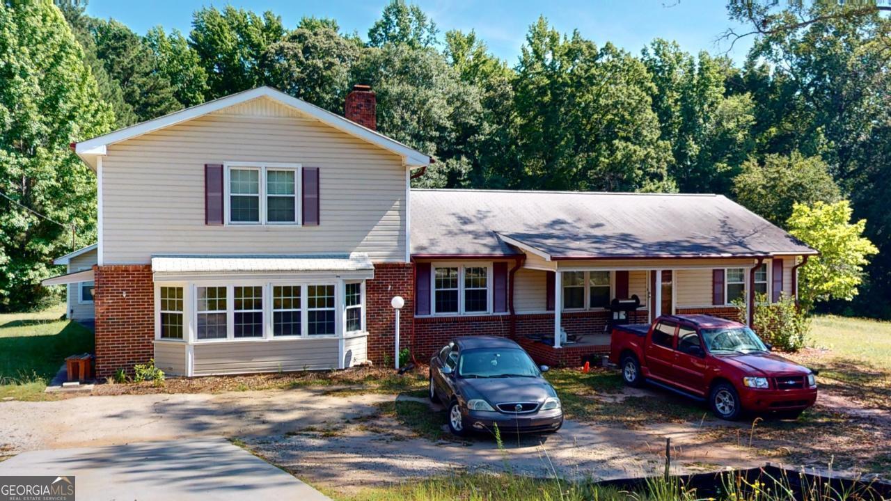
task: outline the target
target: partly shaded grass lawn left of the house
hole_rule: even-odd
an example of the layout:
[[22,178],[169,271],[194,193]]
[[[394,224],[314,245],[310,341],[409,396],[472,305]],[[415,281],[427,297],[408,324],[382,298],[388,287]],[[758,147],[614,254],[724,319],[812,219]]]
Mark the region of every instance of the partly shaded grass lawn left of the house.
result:
[[93,351],[93,333],[64,314],[59,305],[0,315],[0,398],[42,398],[65,357]]

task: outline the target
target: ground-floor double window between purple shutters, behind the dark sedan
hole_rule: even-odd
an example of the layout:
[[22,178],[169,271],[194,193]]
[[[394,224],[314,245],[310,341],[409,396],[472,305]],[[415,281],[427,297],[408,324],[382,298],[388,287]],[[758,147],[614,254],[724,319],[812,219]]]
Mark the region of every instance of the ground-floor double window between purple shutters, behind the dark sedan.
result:
[[491,311],[492,271],[485,265],[433,267],[433,313],[486,314]]

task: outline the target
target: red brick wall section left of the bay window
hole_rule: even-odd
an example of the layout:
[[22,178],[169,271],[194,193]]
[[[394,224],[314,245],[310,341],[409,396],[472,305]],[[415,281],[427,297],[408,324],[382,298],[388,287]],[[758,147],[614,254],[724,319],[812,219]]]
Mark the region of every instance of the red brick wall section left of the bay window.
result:
[[154,286],[151,265],[94,267],[96,376],[154,356]]

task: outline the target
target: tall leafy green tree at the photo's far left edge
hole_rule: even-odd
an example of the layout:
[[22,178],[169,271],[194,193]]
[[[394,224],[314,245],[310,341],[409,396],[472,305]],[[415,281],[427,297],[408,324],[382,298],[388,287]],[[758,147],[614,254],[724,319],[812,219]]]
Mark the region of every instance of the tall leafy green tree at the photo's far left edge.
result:
[[107,132],[113,117],[49,0],[0,4],[0,61],[0,192],[12,199],[0,197],[0,310],[8,311],[39,307],[52,259],[94,242],[94,177],[68,145]]

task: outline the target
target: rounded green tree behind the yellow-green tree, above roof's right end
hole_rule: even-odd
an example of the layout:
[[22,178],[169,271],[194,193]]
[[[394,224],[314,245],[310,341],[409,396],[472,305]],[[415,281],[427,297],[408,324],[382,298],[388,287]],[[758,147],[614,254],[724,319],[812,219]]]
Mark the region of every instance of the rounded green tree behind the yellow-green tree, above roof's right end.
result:
[[833,203],[841,198],[826,163],[820,157],[805,158],[768,154],[763,162],[748,160],[739,176],[733,178],[737,201],[774,225],[783,226],[796,203],[813,206],[818,201]]

